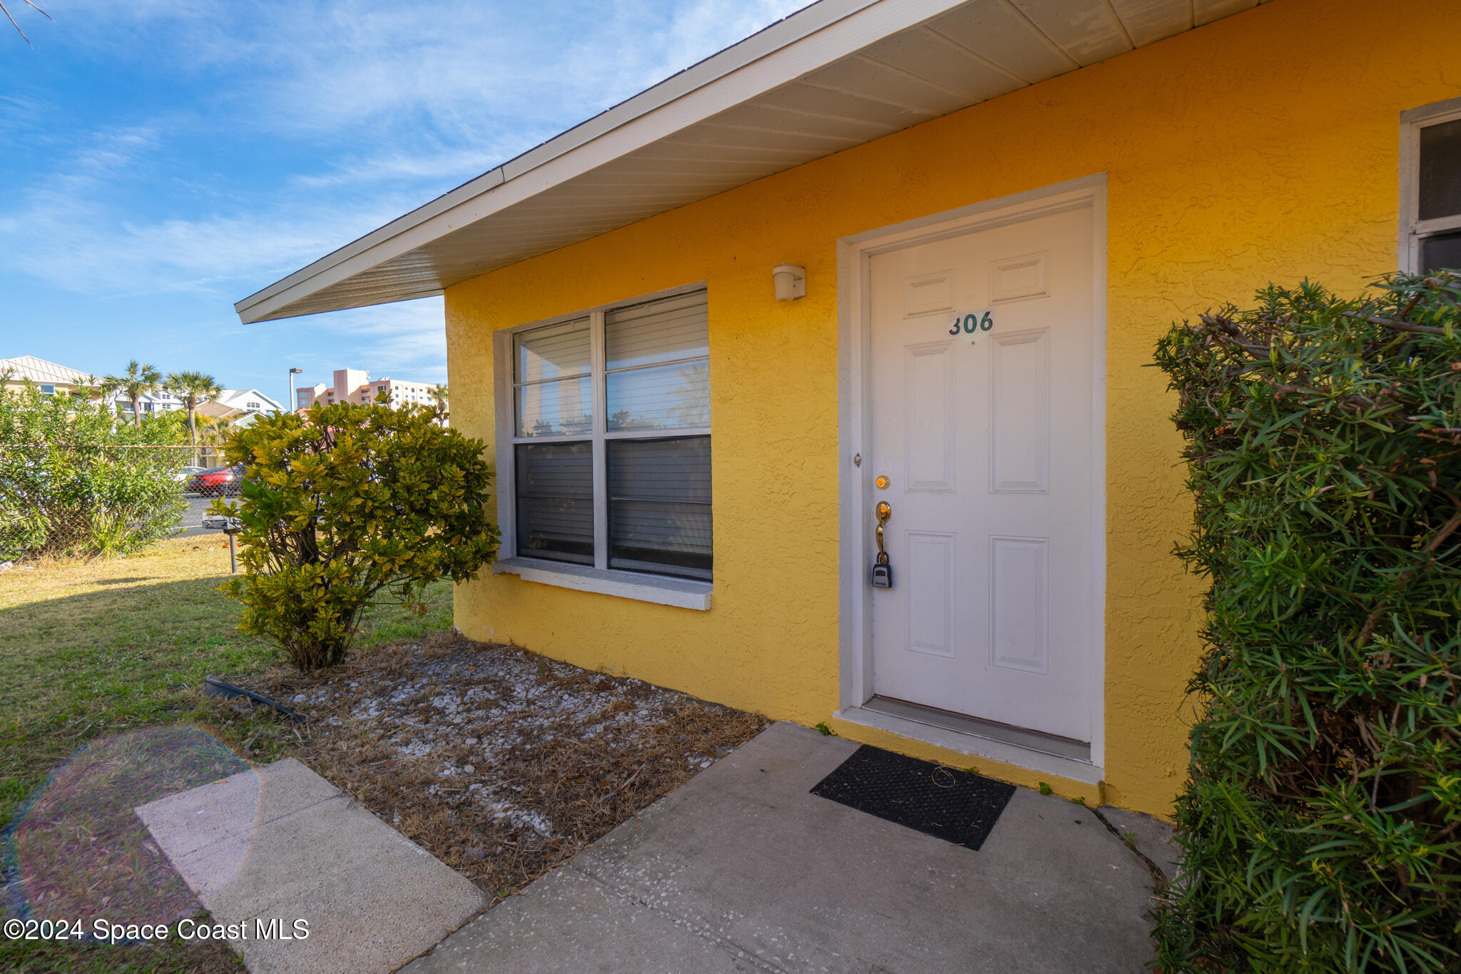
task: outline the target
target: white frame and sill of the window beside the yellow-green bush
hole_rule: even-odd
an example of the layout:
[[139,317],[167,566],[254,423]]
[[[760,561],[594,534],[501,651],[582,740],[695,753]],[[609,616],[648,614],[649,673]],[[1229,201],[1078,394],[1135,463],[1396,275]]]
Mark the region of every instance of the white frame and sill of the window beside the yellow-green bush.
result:
[[[615,308],[657,301],[660,298],[674,298],[676,295],[693,294],[695,291],[706,292],[706,305],[709,312],[709,288],[706,286],[706,282],[701,280],[676,288],[668,288],[665,291],[634,295],[619,301],[609,301],[593,308],[558,314],[549,318],[530,321],[527,324],[500,329],[492,334],[497,524],[501,532],[498,561],[492,568],[494,574],[517,574],[530,581],[542,581],[545,584],[555,584],[584,591],[602,591],[619,597],[675,605],[687,609],[710,607],[712,583],[709,581],[609,568],[609,441],[712,437],[714,416],[712,415],[710,426],[678,426],[674,429],[608,429],[608,372],[605,368],[606,349],[603,342],[605,314]],[[514,375],[517,362],[516,337],[524,331],[532,331],[552,324],[564,324],[567,321],[577,321],[580,318],[589,320],[589,394],[593,403],[593,426],[590,432],[519,437],[519,383]],[[552,561],[546,558],[520,555],[517,551],[517,447],[520,444],[580,442],[584,440],[593,444],[593,565],[590,567],[567,561]],[[712,444],[714,444],[713,437]],[[713,456],[714,447],[712,445],[712,457]],[[713,467],[714,460],[712,459],[712,469]],[[712,524],[714,524],[713,515]],[[714,529],[712,527],[712,537],[713,532]],[[713,548],[714,540],[712,540],[712,549]]]

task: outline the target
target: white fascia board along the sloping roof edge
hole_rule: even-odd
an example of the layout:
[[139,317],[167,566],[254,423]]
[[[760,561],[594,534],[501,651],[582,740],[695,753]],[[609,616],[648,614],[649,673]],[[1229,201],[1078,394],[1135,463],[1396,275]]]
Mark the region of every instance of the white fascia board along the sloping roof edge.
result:
[[966,0],[820,0],[269,285],[237,302],[234,310],[244,324],[263,321],[317,291],[653,145],[963,3]]

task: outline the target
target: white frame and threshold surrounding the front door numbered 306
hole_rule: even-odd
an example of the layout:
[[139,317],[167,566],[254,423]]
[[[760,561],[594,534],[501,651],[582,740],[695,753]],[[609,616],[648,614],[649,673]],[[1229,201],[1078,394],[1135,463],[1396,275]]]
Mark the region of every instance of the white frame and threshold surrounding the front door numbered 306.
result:
[[[948,237],[1091,207],[1091,759],[1046,755],[1012,743],[891,717],[862,707],[872,697],[872,464],[856,464],[871,444],[871,258]],[[1106,174],[963,206],[843,237],[837,241],[837,438],[840,505],[840,710],[836,717],[1037,771],[1096,783],[1106,748]]]

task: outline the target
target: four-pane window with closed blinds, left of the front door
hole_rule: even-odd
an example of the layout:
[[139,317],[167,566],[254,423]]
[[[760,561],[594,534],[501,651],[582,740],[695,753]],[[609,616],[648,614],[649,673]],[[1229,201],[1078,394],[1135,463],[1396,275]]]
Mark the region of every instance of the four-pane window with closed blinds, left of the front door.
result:
[[706,292],[513,336],[517,555],[710,580]]

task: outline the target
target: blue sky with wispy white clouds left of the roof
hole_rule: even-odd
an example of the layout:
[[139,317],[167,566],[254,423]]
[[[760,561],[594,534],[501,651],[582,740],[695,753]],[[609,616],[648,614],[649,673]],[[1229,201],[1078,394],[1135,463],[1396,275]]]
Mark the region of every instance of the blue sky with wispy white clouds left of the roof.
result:
[[805,0],[37,0],[0,20],[0,358],[444,381],[441,299],[232,302]]

